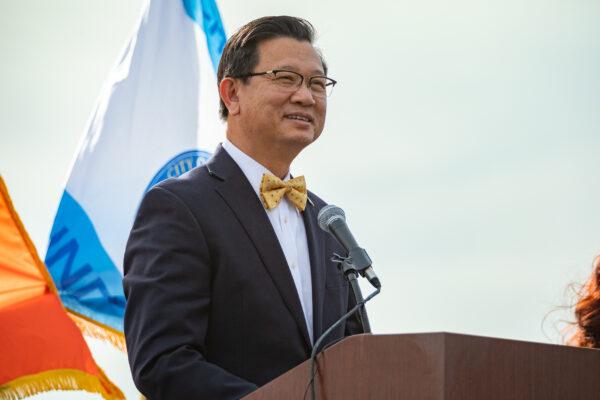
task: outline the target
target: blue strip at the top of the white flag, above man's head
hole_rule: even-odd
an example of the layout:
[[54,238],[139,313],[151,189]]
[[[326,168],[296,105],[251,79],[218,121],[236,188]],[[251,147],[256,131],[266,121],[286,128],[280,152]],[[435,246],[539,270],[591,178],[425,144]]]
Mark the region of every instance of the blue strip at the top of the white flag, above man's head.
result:
[[213,68],[217,72],[227,41],[217,3],[215,0],[183,0],[183,6],[187,15],[202,27]]

